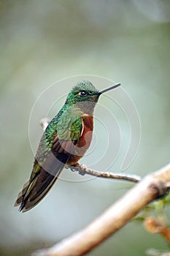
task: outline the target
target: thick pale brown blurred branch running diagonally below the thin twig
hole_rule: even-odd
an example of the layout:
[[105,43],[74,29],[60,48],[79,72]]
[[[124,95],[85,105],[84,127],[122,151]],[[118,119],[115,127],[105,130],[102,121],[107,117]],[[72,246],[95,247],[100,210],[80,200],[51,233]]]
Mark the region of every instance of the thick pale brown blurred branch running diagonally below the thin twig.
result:
[[169,190],[169,184],[170,164],[142,178],[136,186],[83,230],[49,249],[34,252],[32,256],[85,255],[123,227],[148,203],[165,195]]

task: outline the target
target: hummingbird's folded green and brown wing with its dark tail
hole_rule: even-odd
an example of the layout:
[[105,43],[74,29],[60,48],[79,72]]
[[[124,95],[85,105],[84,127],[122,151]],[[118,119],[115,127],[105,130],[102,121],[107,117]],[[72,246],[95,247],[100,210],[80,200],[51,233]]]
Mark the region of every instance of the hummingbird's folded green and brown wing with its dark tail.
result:
[[53,118],[40,140],[31,177],[15,202],[15,206],[20,205],[20,211],[30,210],[47,195],[69,161],[70,155],[66,152],[72,151],[72,145],[81,134],[82,119],[79,116],[75,118],[67,113],[63,118]]

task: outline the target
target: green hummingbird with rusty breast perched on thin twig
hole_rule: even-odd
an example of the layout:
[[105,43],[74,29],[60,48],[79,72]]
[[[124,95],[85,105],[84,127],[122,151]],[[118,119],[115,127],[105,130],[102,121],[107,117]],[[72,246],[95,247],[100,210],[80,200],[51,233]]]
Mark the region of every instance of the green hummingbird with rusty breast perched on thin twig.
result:
[[72,87],[65,104],[50,121],[39,142],[31,176],[15,201],[15,206],[20,206],[19,211],[36,206],[53,187],[64,167],[77,166],[92,140],[93,110],[98,98],[118,86],[120,83],[98,91],[93,83],[83,80]]

